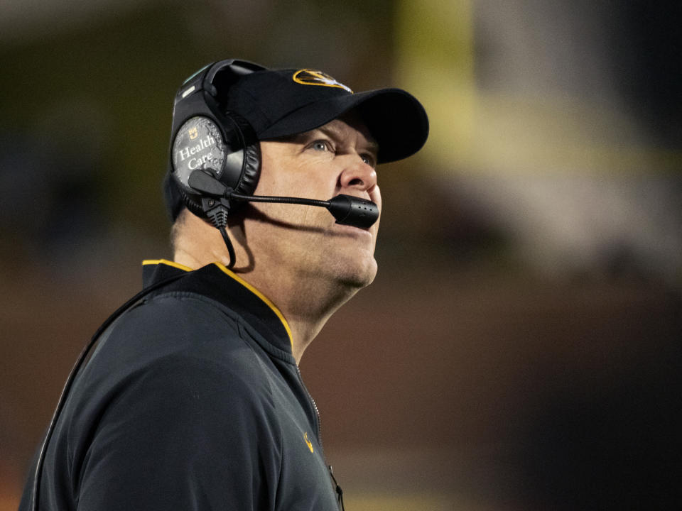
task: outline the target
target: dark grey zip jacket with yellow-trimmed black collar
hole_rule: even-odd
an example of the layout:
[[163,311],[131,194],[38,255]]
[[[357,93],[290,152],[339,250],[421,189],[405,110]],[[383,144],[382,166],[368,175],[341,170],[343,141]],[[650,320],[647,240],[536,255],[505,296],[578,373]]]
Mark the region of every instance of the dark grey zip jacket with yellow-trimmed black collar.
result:
[[188,270],[146,261],[146,286],[186,275],[101,336],[48,444],[40,509],[336,511],[286,320],[222,265]]

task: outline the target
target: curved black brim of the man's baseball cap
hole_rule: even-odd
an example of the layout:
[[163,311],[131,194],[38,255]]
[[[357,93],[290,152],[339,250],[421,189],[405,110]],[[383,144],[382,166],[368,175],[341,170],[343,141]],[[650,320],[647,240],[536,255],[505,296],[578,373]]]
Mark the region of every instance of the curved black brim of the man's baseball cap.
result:
[[271,124],[258,137],[266,140],[310,131],[352,109],[379,144],[378,163],[407,158],[426,143],[426,111],[402,89],[378,89],[315,101]]

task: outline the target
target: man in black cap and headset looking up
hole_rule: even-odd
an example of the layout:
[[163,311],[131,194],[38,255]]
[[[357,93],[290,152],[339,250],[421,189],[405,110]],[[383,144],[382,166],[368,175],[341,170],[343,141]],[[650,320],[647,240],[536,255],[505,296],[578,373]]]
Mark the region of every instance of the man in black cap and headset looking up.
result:
[[239,207],[231,191],[380,209],[377,163],[415,153],[427,133],[422,106],[399,89],[353,94],[319,71],[232,60],[190,77],[164,185],[173,261],[145,261],[144,295],[95,335],[21,510],[337,510],[298,361],[374,279],[379,223]]

